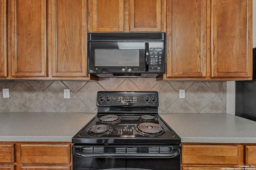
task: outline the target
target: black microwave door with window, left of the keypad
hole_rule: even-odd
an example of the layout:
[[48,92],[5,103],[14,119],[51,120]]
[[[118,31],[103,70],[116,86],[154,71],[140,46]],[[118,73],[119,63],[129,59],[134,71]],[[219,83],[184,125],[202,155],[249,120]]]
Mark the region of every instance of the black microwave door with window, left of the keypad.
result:
[[89,73],[145,72],[147,57],[147,42],[88,41]]

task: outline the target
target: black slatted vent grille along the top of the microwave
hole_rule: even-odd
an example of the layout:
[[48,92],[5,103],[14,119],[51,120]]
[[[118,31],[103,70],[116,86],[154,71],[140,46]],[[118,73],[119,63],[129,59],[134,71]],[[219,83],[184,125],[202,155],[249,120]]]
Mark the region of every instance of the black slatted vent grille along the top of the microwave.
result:
[[165,33],[88,33],[88,41],[165,41]]

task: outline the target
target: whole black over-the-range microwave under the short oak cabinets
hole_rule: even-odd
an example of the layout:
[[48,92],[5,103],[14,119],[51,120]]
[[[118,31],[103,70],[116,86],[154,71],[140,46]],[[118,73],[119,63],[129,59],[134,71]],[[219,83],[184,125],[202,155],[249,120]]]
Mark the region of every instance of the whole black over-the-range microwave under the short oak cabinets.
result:
[[88,33],[88,73],[157,77],[165,73],[165,33]]

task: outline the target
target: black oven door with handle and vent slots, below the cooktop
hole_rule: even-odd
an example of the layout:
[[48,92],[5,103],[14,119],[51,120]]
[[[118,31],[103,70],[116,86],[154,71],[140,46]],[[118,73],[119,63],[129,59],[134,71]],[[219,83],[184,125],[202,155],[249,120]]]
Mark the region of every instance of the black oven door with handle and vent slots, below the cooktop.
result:
[[117,148],[73,146],[73,170],[180,170],[180,146]]

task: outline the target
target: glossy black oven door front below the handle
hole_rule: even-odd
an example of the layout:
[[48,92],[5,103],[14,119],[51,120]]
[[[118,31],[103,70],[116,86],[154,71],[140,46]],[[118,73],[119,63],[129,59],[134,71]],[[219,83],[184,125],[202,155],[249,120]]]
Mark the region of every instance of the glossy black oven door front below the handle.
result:
[[73,155],[73,170],[180,170],[174,158],[81,158]]

